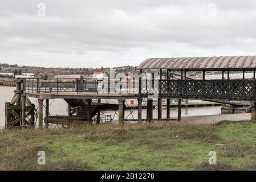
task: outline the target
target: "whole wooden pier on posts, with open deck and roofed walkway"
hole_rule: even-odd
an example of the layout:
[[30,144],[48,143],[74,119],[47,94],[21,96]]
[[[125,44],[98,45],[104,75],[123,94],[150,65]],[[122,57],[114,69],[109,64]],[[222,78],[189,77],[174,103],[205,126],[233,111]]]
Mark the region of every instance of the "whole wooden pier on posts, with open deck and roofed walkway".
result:
[[[39,128],[48,127],[50,123],[75,126],[99,124],[103,118],[100,110],[110,105],[101,100],[117,100],[119,124],[124,123],[125,100],[137,100],[137,121],[153,120],[153,98],[157,99],[159,121],[162,120],[162,99],[166,99],[166,121],[170,120],[171,99],[178,100],[178,118],[181,120],[182,100],[203,100],[234,106],[250,105],[251,119],[256,119],[255,102],[255,67],[256,56],[233,57],[188,57],[155,58],[143,61],[137,67],[137,75],[129,78],[106,77],[102,80],[92,78],[21,78],[16,80],[14,98],[6,103],[6,127],[34,126],[35,114],[38,116]],[[188,72],[202,72],[200,80],[190,78]],[[207,72],[222,72],[222,79],[206,80]],[[230,72],[242,72],[243,78],[231,80]],[[245,78],[245,73],[253,73],[253,78]],[[224,75],[227,75],[225,78]],[[149,76],[150,75],[150,76]],[[39,107],[34,109],[29,98],[37,98]],[[67,115],[51,116],[49,101],[63,99],[68,104]],[[97,102],[92,102],[97,100]],[[141,117],[142,101],[147,100],[147,118]],[[45,105],[43,105],[45,101]],[[60,106],[61,107],[61,106]],[[46,117],[43,118],[43,108]],[[96,119],[93,117],[96,116]]]

